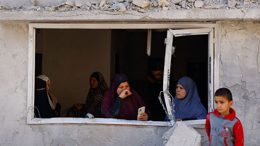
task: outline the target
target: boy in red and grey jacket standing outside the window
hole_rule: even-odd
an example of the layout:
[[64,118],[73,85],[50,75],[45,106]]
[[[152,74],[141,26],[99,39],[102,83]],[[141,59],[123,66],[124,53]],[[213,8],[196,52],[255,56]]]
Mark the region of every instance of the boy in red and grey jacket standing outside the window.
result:
[[209,145],[244,145],[242,124],[236,117],[232,94],[227,88],[215,92],[216,109],[207,114],[205,129]]

